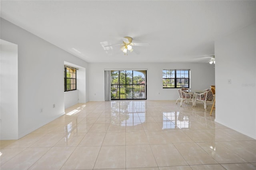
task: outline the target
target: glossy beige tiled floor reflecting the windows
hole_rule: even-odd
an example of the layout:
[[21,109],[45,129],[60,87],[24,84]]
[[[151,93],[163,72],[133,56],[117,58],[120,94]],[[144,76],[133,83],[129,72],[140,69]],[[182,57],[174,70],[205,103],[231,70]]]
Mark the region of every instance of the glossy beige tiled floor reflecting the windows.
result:
[[77,104],[19,140],[1,170],[255,170],[256,140],[214,122],[211,106],[176,101]]

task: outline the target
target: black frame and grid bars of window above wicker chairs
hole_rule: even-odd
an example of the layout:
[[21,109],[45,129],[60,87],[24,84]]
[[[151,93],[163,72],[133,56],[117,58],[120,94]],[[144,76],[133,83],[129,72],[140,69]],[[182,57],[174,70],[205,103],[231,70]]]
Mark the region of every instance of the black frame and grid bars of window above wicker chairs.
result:
[[[164,74],[164,71],[166,71],[166,73]],[[167,71],[170,71],[169,73],[167,73]],[[174,71],[174,73],[172,73],[172,71]],[[180,71],[188,71],[188,74],[185,73],[177,73]],[[172,76],[172,74],[174,74],[174,77]],[[177,77],[177,74],[184,74],[184,75],[188,75],[188,78],[185,77]],[[166,75],[166,77],[164,77],[164,75]],[[169,76],[168,76],[169,75]],[[190,69],[163,69],[162,70],[162,88],[163,89],[176,89],[176,88],[190,88]],[[184,80],[184,87],[177,87],[177,84],[181,81],[181,79]],[[174,86],[168,87],[168,83],[169,84],[174,84]],[[187,86],[186,86],[187,84]]]

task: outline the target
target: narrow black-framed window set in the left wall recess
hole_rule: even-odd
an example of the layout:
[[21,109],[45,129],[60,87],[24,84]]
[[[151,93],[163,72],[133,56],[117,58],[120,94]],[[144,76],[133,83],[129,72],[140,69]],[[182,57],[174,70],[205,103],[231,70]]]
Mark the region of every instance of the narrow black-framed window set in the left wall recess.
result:
[[64,66],[64,91],[76,90],[76,68]]

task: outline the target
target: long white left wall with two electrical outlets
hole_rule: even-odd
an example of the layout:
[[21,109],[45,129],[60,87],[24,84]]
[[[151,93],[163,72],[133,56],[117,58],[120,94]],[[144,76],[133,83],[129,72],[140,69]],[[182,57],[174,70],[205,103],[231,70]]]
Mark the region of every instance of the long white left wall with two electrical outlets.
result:
[[20,138],[64,114],[64,61],[84,68],[88,63],[2,18],[1,39],[18,45]]

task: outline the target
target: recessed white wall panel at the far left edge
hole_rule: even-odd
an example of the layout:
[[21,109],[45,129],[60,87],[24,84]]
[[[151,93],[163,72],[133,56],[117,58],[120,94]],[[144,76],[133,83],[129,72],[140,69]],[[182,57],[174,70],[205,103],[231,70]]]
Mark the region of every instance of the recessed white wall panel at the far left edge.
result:
[[18,45],[0,41],[0,140],[10,140],[18,138]]

